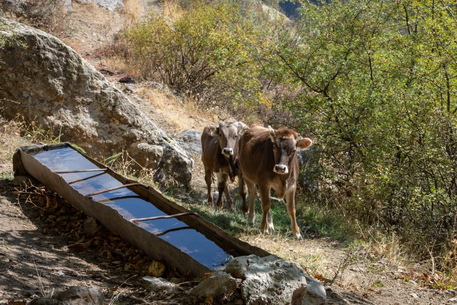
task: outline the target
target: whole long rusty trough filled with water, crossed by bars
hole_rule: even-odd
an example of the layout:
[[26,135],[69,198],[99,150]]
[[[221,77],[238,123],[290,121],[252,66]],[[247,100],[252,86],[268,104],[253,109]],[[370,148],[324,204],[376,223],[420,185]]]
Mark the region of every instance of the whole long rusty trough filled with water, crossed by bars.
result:
[[153,259],[201,277],[253,247],[162,196],[80,153],[69,143],[19,147],[15,175],[30,175]]

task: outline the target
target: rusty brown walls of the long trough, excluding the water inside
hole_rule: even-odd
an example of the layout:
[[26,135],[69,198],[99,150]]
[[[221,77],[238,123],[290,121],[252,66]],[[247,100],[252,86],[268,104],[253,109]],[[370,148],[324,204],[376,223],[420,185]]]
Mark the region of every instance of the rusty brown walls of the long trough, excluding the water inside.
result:
[[[100,221],[100,223],[108,230],[117,232],[123,240],[132,243],[132,245],[139,249],[142,249],[152,259],[162,261],[171,267],[175,267],[183,275],[190,274],[194,277],[202,277],[204,273],[211,271],[211,269],[172,246],[167,241],[124,219],[117,210],[103,203],[93,201],[91,198],[85,197],[83,194],[73,189],[61,176],[53,173],[48,167],[41,164],[33,156],[27,154],[27,152],[34,150],[57,148],[62,146],[69,146],[97,166],[108,168],[106,172],[119,179],[123,184],[137,182],[132,179],[127,179],[126,177],[114,172],[104,164],[99,163],[81,153],[81,151],[67,142],[52,145],[44,144],[18,147],[13,156],[13,170],[15,176],[29,175],[34,177],[50,190],[68,200],[78,209],[82,210],[87,216]],[[154,202],[159,209],[168,215],[191,212],[189,209],[165,198],[152,187],[140,184],[138,186],[129,187],[129,189],[145,197],[146,200]],[[231,249],[241,255],[255,254],[260,257],[270,255],[270,253],[263,249],[251,246],[249,243],[225,233],[221,228],[205,220],[203,217],[189,216],[185,218],[184,216],[177,219],[185,219],[185,222],[189,226],[198,228],[200,232],[207,236],[207,238],[208,236],[211,236],[209,239],[216,242],[219,247],[223,246],[223,249],[226,251],[227,249]],[[227,245],[230,245],[230,247],[227,248]]]

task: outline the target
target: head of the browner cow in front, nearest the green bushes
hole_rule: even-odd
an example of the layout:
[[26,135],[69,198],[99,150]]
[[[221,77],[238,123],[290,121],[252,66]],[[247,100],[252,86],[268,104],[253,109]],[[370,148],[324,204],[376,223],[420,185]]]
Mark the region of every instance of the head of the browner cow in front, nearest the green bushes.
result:
[[285,175],[289,172],[289,167],[293,158],[296,156],[296,148],[307,148],[313,142],[311,139],[299,139],[298,133],[290,128],[278,130],[270,129],[270,139],[273,142],[273,153],[275,155],[275,173]]

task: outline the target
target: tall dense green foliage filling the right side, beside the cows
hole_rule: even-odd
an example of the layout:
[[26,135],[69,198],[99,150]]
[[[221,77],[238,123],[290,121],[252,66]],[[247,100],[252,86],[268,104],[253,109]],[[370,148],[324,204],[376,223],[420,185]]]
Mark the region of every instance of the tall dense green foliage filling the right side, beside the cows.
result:
[[281,123],[316,139],[320,195],[417,248],[446,249],[457,232],[455,3],[303,3],[277,37],[265,73],[296,93],[275,104],[292,114]]

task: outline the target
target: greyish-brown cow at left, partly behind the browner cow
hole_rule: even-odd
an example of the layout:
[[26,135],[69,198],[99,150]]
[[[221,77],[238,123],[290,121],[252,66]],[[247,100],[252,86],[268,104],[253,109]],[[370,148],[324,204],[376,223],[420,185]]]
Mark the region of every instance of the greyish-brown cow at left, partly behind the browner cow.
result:
[[222,192],[225,193],[228,208],[232,208],[232,198],[228,194],[227,180],[233,182],[235,176],[238,176],[239,192],[246,206],[246,193],[244,190],[244,180],[241,175],[238,164],[238,143],[241,134],[247,129],[247,126],[241,122],[223,123],[219,126],[215,124],[207,125],[202,133],[202,161],[205,167],[205,181],[208,186],[207,201],[213,204],[213,195],[211,193],[212,173],[217,175],[217,197],[215,207],[222,208]]

